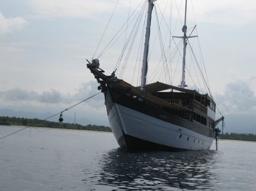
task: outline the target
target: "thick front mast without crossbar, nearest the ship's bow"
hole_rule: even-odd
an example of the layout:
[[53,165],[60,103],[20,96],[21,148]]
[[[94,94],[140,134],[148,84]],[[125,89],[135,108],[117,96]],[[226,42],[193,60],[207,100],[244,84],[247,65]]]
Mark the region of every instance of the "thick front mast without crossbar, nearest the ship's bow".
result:
[[140,90],[145,91],[146,86],[146,76],[147,76],[147,58],[149,55],[149,37],[150,37],[150,26],[151,26],[151,15],[153,10],[153,1],[155,0],[148,0],[149,1],[149,8],[147,9],[147,26],[146,26],[146,34],[145,34],[145,43],[144,43],[144,53],[143,53],[143,64],[141,69],[141,83],[140,83]]

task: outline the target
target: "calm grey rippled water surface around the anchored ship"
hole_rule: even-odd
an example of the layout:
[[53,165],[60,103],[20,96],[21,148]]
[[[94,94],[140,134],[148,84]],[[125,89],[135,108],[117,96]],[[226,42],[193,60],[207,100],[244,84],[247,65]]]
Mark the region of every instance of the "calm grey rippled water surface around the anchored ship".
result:
[[110,133],[25,129],[0,140],[0,190],[256,190],[256,143],[214,148],[134,153]]

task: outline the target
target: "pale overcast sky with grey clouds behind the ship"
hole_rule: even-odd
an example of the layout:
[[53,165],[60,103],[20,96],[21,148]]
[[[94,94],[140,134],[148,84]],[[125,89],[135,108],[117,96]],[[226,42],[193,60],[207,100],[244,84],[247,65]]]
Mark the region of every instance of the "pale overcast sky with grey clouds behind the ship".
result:
[[[96,54],[138,2],[119,1],[113,15],[117,19],[110,23]],[[167,2],[158,0],[155,7]],[[226,131],[256,134],[256,2],[188,2],[193,7],[188,10],[188,23],[193,22],[188,28],[194,26],[195,15],[209,84],[226,117]],[[1,0],[0,109],[55,114],[97,93],[98,85],[86,68],[86,59],[93,57],[116,3],[117,0]],[[172,4],[179,23],[183,12],[178,15],[174,10],[182,8],[184,0]],[[173,33],[181,35],[181,27]],[[119,51],[113,46],[100,57],[106,74],[115,67]],[[123,78],[130,82],[133,74],[129,64],[127,70]],[[77,118],[109,125],[102,94],[65,115],[70,117],[75,112]]]

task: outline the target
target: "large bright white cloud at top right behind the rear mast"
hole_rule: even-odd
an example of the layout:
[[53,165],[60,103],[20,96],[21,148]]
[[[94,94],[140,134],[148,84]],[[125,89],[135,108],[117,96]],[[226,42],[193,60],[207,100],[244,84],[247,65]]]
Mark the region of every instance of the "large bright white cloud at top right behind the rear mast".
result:
[[[179,17],[178,23],[181,22],[183,25],[185,1],[156,1],[156,4],[166,15],[172,11],[174,21]],[[256,2],[253,0],[191,0],[187,1],[187,20],[190,20],[187,25],[194,21],[195,14],[196,22],[217,23],[229,27],[241,26],[256,20],[255,9]]]

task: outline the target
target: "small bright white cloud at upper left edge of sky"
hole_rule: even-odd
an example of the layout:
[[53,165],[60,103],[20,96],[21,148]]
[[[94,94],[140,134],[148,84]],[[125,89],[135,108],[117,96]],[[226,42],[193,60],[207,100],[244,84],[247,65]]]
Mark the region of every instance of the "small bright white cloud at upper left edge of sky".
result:
[[5,18],[0,11],[0,35],[22,29],[26,20],[22,17]]

